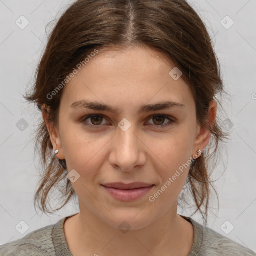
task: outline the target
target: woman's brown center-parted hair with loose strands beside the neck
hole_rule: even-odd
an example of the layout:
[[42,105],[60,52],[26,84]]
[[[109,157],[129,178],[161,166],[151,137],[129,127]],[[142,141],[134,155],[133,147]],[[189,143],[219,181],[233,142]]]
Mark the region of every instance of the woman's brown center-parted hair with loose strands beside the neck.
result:
[[[197,122],[211,131],[209,150],[192,161],[186,181],[196,204],[195,212],[200,211],[206,224],[212,186],[208,163],[211,160],[211,166],[215,166],[212,156],[217,153],[219,141],[227,138],[218,117],[210,127],[208,108],[215,94],[224,91],[219,62],[207,29],[185,0],[77,0],[65,10],[52,30],[36,69],[33,91],[24,98],[35,102],[40,111],[47,111],[44,105],[49,107],[49,120],[57,126],[62,90],[53,98],[47,95],[93,50],[131,45],[148,46],[175,63],[192,90]],[[66,205],[75,192],[66,178],[65,160],[52,154],[43,119],[36,131],[36,148],[44,168],[34,204],[38,202],[40,210],[52,214]],[[49,211],[46,205],[49,192],[60,184],[65,185],[65,189],[59,189],[65,200],[59,208]],[[182,200],[185,202],[183,197]]]

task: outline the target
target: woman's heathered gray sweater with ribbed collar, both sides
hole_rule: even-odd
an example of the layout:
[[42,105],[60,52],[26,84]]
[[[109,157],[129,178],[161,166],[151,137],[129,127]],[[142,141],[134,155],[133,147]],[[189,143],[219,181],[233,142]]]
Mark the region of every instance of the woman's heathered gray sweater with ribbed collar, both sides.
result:
[[[252,250],[192,218],[180,216],[191,222],[194,228],[193,246],[188,256],[256,256]],[[21,239],[1,245],[0,256],[72,256],[63,229],[66,218],[32,231]]]

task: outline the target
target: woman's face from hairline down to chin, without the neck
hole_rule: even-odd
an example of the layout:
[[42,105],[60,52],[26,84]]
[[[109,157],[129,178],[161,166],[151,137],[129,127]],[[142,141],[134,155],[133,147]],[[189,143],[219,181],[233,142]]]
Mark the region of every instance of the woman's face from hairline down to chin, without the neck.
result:
[[[50,138],[74,176],[80,214],[89,210],[115,228],[125,220],[131,229],[176,214],[191,157],[210,134],[196,122],[189,85],[169,75],[174,67],[148,48],[102,50],[63,88]],[[120,195],[103,186],[113,182],[153,186]]]

